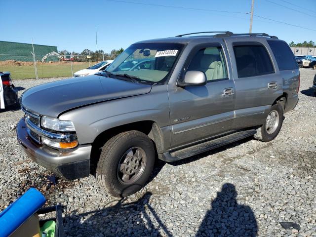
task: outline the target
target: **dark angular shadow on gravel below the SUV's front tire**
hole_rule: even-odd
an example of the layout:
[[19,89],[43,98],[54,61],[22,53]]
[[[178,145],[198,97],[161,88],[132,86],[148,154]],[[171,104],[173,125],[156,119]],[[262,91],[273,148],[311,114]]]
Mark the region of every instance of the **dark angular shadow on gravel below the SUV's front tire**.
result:
[[[118,202],[101,210],[85,212],[66,218],[68,236],[164,236],[172,237],[170,231],[162,223],[155,209],[150,204],[152,193],[145,193],[134,202],[126,202],[127,198],[120,198]],[[83,219],[84,221],[78,221]],[[154,223],[155,222],[155,223]]]

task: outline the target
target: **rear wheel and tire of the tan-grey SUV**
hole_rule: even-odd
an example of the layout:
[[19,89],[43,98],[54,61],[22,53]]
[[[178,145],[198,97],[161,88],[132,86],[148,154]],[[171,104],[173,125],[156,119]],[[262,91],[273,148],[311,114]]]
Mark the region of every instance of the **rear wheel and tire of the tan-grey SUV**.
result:
[[[277,118],[275,119],[277,125],[275,124],[275,126],[270,127],[270,125],[268,125],[269,116],[269,121],[271,121],[271,118],[273,118],[275,114],[277,114]],[[273,139],[275,139],[277,134],[281,130],[283,118],[284,117],[282,106],[279,103],[274,104],[271,107],[271,110],[266,118],[266,122],[260,128],[257,129],[257,133],[254,135],[254,138],[261,142],[270,142]],[[273,122],[271,122],[270,124],[273,124]]]

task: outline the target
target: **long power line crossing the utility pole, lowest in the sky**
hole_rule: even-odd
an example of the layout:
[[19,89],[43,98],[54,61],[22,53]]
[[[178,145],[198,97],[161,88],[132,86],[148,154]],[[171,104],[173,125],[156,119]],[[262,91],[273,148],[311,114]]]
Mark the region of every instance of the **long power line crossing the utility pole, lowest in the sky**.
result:
[[[196,11],[213,11],[213,12],[226,12],[226,13],[239,13],[239,14],[250,14],[251,13],[251,12],[240,12],[240,11],[222,11],[222,10],[201,9],[201,8],[191,8],[191,7],[182,7],[182,6],[170,6],[170,5],[143,3],[143,2],[126,1],[126,0],[107,0],[107,1],[120,2],[120,3],[132,3],[132,4],[148,5],[148,6],[161,6],[161,7],[178,8],[178,9],[186,9],[186,10],[196,10]],[[310,31],[315,31],[316,32],[316,30],[311,29],[311,28],[298,26],[298,25],[286,23],[286,22],[283,22],[283,21],[274,20],[274,19],[267,18],[267,17],[264,17],[264,16],[259,16],[259,15],[255,15],[255,14],[253,14],[253,15],[256,16],[256,17],[262,18],[262,19],[269,20],[269,21],[274,21],[274,22],[277,22],[277,23],[281,23],[281,24],[294,26],[294,27],[298,27],[298,28],[302,28],[302,29],[305,29],[305,30],[310,30]]]

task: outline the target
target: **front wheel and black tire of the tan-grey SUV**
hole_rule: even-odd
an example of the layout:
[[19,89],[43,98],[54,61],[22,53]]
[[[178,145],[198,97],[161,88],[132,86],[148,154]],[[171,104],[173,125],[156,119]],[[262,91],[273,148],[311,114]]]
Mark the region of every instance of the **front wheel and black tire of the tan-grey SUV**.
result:
[[111,195],[127,197],[145,186],[154,163],[154,144],[146,134],[122,132],[103,146],[96,169],[97,182]]

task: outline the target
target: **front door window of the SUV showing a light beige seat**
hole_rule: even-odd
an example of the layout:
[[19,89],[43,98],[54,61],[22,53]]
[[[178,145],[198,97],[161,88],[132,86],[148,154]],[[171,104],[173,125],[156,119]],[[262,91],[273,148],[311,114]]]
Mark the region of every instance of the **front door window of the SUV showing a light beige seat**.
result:
[[227,70],[222,47],[208,47],[197,51],[188,71],[200,71],[207,81],[226,79]]

